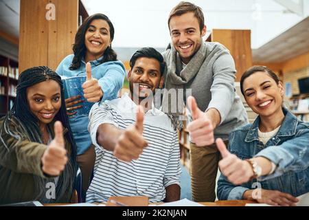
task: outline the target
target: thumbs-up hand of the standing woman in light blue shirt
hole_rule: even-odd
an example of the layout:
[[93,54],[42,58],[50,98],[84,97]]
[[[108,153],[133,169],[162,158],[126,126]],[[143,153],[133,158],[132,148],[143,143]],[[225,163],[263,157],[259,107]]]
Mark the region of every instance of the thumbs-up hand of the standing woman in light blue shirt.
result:
[[86,64],[87,80],[82,84],[84,91],[84,98],[87,98],[88,102],[98,102],[103,96],[103,91],[96,78],[91,76],[91,64]]

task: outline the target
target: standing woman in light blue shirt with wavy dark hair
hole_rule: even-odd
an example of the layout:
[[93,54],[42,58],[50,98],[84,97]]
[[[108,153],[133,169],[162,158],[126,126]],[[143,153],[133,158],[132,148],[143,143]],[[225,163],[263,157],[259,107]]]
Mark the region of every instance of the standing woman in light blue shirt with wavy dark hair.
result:
[[[117,61],[117,54],[111,48],[113,38],[114,27],[108,17],[93,14],[78,28],[73,54],[64,58],[56,69],[61,76],[87,76],[82,87],[84,98],[89,102],[113,100],[122,88],[125,68],[121,61]],[[88,113],[78,115],[75,111],[83,107],[80,98],[73,96],[67,98],[65,103],[77,144],[77,161],[82,171],[82,191],[85,196],[93,171],[95,152],[87,129]]]

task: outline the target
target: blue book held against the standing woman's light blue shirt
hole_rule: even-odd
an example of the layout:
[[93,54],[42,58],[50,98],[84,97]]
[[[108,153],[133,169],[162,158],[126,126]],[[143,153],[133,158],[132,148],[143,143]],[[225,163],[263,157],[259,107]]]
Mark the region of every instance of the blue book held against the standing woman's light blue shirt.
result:
[[[63,88],[65,91],[65,98],[70,98],[72,96],[81,96],[81,100],[84,102],[75,104],[73,106],[82,105],[81,109],[76,109],[75,115],[89,115],[89,111],[95,102],[88,102],[86,98],[84,98],[84,92],[82,90],[82,84],[86,81],[86,76],[72,76],[65,77],[61,76],[63,82]],[[73,115],[73,117],[75,116]],[[72,116],[71,116],[72,117]]]

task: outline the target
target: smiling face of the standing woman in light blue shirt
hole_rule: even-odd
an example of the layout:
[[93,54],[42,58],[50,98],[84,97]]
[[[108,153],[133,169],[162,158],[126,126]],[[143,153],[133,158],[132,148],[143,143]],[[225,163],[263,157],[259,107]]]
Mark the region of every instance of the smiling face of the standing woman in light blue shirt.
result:
[[84,45],[87,48],[85,61],[94,61],[102,56],[106,48],[111,45],[111,34],[108,23],[102,19],[91,21],[84,34]]

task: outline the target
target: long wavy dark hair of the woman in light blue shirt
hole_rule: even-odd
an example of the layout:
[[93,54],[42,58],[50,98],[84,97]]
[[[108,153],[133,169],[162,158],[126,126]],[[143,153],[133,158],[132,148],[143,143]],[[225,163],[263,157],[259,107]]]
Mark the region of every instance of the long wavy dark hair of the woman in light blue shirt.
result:
[[[69,69],[74,70],[80,67],[82,58],[84,58],[87,52],[86,45],[84,44],[84,35],[86,34],[90,23],[96,19],[101,19],[103,21],[106,21],[109,27],[109,34],[111,37],[111,41],[113,41],[114,34],[115,34],[114,26],[113,26],[113,23],[111,23],[111,20],[109,20],[105,14],[98,13],[98,14],[93,14],[87,17],[87,19],[84,20],[84,22],[82,23],[82,25],[80,25],[80,28],[78,28],[78,31],[76,32],[75,43],[73,44],[74,57],[73,57],[73,61]],[[110,45],[104,51],[104,57],[100,61],[100,63],[105,63],[108,61],[116,61],[116,60],[117,60],[117,54]]]

